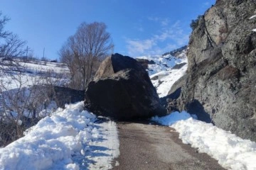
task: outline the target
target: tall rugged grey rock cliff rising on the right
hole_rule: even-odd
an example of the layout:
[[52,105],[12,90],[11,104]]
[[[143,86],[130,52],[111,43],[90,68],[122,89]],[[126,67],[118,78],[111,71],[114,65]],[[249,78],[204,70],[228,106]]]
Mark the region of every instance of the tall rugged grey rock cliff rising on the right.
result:
[[[218,0],[198,21],[178,110],[256,141],[256,0]],[[170,94],[171,95],[171,94]],[[174,102],[173,102],[174,103]]]

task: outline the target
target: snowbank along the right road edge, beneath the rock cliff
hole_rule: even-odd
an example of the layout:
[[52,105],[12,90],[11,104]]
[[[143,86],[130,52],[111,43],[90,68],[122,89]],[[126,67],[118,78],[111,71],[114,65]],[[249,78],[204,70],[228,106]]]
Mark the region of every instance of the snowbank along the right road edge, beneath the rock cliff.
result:
[[162,125],[171,125],[179,132],[179,138],[185,144],[198,148],[210,157],[218,160],[225,169],[255,170],[256,143],[215,127],[211,123],[204,123],[191,118],[183,111],[171,113],[165,117],[154,117],[152,120]]

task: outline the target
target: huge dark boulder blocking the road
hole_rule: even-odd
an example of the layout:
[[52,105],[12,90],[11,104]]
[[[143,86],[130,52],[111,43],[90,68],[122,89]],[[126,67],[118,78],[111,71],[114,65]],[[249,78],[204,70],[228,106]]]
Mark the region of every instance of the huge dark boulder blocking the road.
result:
[[166,114],[146,70],[133,58],[119,54],[100,65],[85,91],[85,107],[117,120]]

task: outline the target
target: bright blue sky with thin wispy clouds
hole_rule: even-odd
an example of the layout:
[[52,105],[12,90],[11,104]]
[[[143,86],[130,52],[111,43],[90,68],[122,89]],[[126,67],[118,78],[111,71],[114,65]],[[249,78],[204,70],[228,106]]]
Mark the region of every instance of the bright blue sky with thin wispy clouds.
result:
[[104,22],[114,52],[161,55],[188,44],[189,24],[215,0],[0,0],[10,30],[35,57],[57,59],[58,50],[82,22]]

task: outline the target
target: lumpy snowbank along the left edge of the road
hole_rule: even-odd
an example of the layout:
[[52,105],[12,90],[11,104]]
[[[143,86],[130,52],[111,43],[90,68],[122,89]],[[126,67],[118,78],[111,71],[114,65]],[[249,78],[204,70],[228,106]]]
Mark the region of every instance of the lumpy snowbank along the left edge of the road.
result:
[[117,127],[95,120],[83,102],[58,109],[0,149],[0,169],[110,169],[119,155]]

